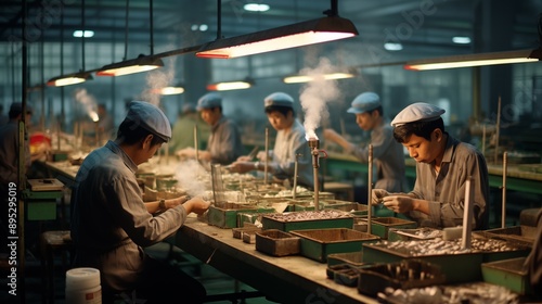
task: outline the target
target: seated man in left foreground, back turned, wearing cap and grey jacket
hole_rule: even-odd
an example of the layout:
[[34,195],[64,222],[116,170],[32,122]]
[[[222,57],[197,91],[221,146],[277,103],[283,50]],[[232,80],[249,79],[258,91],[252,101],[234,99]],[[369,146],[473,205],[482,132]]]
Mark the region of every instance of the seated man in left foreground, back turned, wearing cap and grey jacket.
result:
[[157,106],[132,101],[117,138],[92,151],[77,173],[73,266],[100,270],[104,303],[112,303],[114,294],[145,303],[202,303],[205,297],[197,280],[143,251],[177,232],[190,213],[209,207],[202,198],[181,197],[153,202],[164,211],[153,216],[143,203],[138,165],[170,138],[169,122]]

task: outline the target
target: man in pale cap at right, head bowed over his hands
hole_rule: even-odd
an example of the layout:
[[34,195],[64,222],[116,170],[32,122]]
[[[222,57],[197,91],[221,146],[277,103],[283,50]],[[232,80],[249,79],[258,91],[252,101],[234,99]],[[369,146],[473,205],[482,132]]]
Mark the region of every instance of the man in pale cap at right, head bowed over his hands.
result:
[[488,167],[473,145],[444,131],[444,110],[413,103],[391,122],[393,137],[416,161],[416,181],[409,193],[374,189],[373,204],[383,202],[393,212],[417,220],[421,227],[456,227],[463,224],[465,185],[473,178],[473,229],[487,229],[489,220]]

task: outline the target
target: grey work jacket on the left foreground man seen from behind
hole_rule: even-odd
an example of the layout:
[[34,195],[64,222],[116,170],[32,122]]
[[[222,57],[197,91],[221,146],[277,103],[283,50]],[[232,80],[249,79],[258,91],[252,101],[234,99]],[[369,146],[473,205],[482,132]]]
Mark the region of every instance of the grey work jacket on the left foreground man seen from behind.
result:
[[72,194],[74,266],[98,268],[102,286],[116,291],[136,287],[145,264],[142,246],[171,236],[186,219],[182,205],[150,214],[137,169],[120,147],[108,141],[85,159]]

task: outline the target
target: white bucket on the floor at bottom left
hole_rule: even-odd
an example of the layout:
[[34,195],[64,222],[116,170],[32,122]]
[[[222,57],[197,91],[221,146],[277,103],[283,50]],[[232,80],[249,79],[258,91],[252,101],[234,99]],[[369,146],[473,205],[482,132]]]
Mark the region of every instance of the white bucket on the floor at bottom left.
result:
[[66,304],[102,304],[100,270],[95,268],[67,270]]

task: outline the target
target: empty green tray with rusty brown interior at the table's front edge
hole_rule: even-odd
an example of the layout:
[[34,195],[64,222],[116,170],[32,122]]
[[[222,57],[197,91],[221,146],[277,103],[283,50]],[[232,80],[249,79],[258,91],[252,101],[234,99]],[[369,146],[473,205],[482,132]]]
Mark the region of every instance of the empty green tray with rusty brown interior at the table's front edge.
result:
[[376,242],[378,237],[348,228],[293,230],[301,239],[302,256],[325,263],[327,255],[345,252],[360,252],[362,243]]

